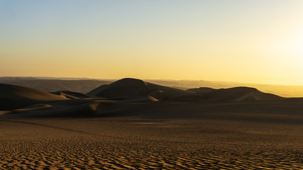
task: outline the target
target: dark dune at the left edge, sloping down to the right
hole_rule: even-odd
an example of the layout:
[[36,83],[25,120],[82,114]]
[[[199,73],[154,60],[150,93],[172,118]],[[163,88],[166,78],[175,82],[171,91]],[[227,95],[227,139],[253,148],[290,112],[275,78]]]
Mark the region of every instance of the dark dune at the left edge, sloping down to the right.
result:
[[51,103],[62,100],[67,100],[67,98],[37,89],[0,84],[0,110],[11,110],[36,103]]

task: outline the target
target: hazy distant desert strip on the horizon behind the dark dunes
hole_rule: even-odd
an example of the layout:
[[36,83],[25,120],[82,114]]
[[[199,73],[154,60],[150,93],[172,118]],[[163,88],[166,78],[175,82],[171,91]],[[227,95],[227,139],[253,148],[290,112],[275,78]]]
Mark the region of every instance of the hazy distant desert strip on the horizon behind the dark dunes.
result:
[[[26,86],[42,91],[75,91],[86,94],[92,89],[104,84],[111,84],[116,79],[65,79],[51,77],[0,77],[0,83]],[[155,80],[146,79],[146,82],[170,86],[175,89],[193,89],[199,87],[210,87],[214,89],[231,88],[235,86],[251,86],[270,94],[283,97],[302,97],[303,86],[273,85],[273,84],[247,84],[228,81],[203,81],[203,80]]]

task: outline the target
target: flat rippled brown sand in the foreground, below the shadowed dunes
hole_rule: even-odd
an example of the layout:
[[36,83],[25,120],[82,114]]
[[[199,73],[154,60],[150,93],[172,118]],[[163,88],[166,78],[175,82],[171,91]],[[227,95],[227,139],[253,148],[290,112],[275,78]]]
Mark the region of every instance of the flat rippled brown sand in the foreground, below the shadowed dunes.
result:
[[0,119],[0,169],[303,169],[303,124]]

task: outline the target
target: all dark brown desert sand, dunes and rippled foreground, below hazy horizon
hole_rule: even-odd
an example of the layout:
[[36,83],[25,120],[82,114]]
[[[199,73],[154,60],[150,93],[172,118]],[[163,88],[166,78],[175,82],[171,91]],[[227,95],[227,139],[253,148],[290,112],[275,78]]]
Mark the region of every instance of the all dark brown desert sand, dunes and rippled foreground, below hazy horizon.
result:
[[121,79],[0,84],[0,169],[303,169],[303,98]]

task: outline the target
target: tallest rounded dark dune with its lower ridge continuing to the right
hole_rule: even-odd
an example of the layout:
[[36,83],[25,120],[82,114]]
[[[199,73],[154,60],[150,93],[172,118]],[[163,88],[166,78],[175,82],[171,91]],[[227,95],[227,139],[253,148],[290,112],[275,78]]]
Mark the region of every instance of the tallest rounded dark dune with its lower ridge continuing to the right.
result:
[[152,96],[165,101],[269,101],[280,100],[282,97],[265,94],[258,89],[235,87],[230,89],[199,88],[174,89],[158,84],[150,84],[139,79],[121,79],[109,85],[99,86],[87,93],[105,98],[121,96]]

